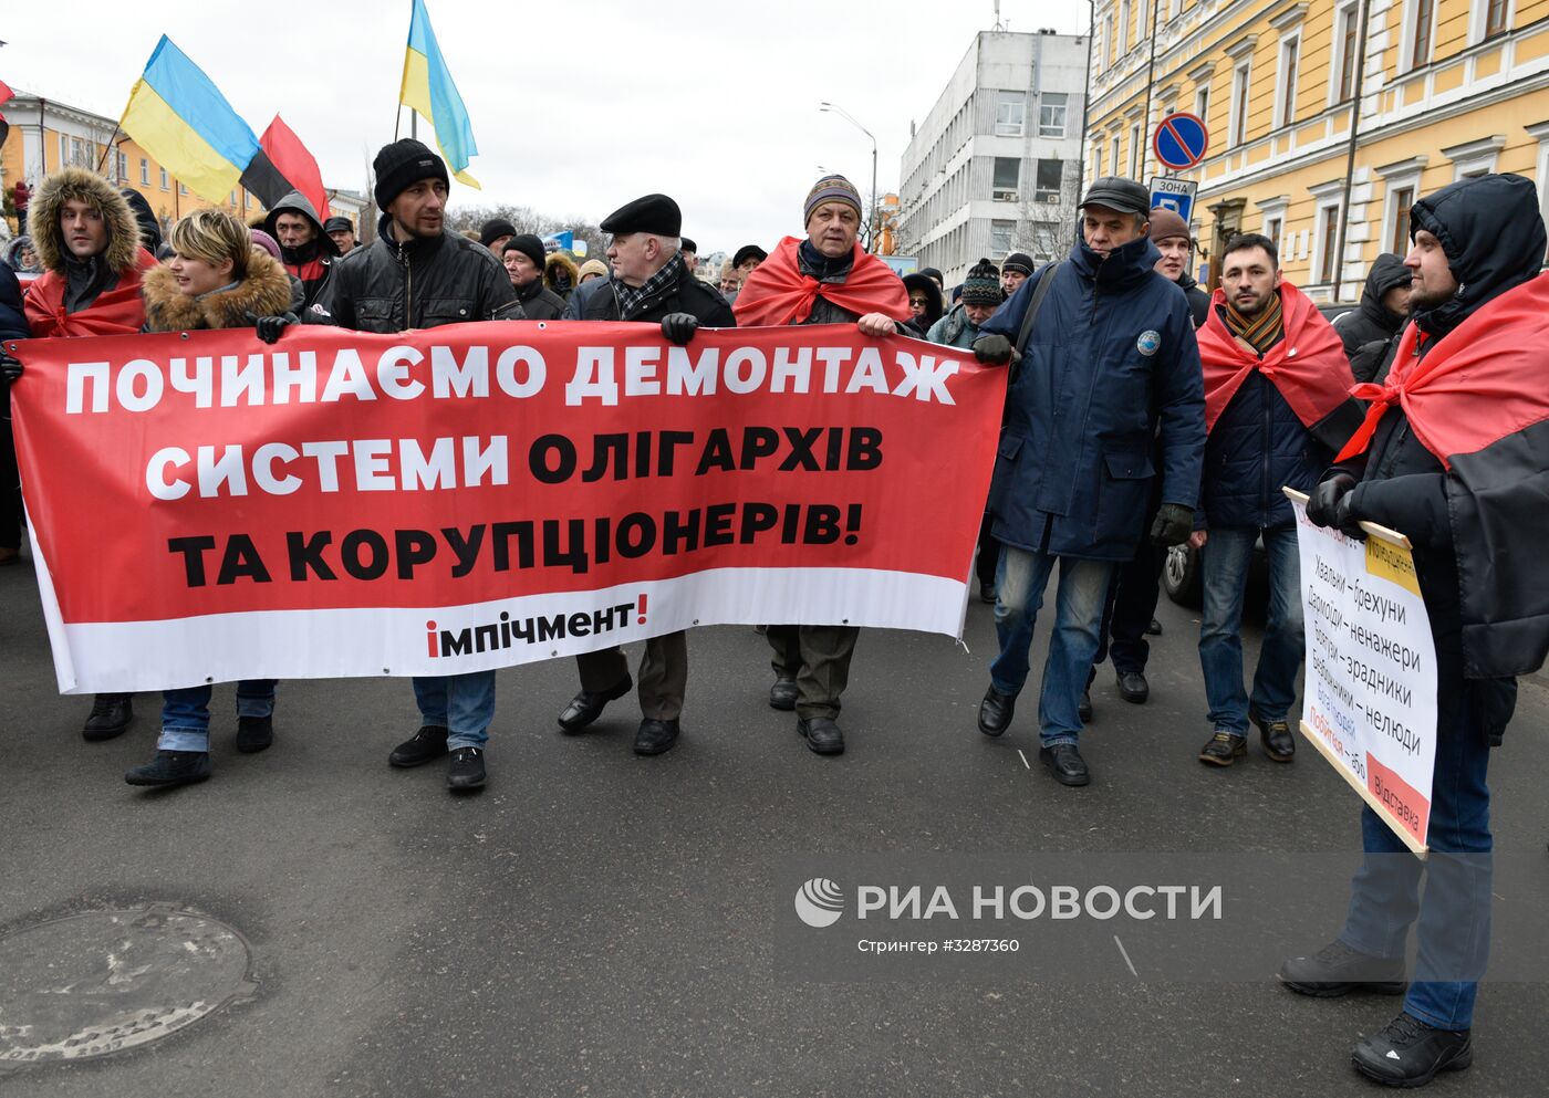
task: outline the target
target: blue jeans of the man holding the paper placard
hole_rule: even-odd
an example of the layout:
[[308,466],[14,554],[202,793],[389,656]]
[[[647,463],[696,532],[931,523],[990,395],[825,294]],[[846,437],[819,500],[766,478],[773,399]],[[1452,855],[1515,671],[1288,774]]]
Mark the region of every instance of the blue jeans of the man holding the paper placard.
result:
[[[1351,881],[1340,940],[1374,957],[1402,957],[1410,926],[1419,920],[1403,1008],[1442,1030],[1467,1030],[1490,952],[1490,746],[1461,658],[1441,657],[1437,664],[1431,855],[1425,863],[1414,858],[1377,813],[1363,808],[1368,856]],[[1424,903],[1422,873],[1428,878]]]

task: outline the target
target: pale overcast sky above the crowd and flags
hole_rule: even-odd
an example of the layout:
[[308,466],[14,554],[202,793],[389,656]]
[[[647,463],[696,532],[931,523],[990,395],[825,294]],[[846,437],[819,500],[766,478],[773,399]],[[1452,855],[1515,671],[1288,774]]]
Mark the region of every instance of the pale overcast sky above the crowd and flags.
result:
[[[254,133],[282,115],[327,186],[361,190],[393,136],[410,6],[6,3],[0,79],[118,118],[166,33]],[[990,0],[428,6],[480,149],[469,172],[483,190],[454,183],[454,206],[507,201],[599,220],[661,190],[703,254],[798,232],[819,164],[869,189],[871,142],[819,113],[824,99],[877,135],[880,190],[895,189],[909,121],[925,118],[994,22]],[[1011,31],[1084,34],[1087,5],[1002,0],[1001,19]]]

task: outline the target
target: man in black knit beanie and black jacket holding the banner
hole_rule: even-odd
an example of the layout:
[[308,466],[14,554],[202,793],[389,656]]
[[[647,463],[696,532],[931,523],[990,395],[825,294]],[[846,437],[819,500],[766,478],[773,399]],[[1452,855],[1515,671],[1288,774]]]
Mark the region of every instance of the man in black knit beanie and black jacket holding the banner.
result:
[[[499,260],[446,231],[446,163],[412,138],[384,146],[373,163],[376,240],[333,266],[307,311],[311,324],[395,333],[466,321],[519,321],[522,307]],[[393,748],[393,767],[451,754],[446,784],[485,782],[483,748],[494,720],[494,672],[415,675],[420,731]]]

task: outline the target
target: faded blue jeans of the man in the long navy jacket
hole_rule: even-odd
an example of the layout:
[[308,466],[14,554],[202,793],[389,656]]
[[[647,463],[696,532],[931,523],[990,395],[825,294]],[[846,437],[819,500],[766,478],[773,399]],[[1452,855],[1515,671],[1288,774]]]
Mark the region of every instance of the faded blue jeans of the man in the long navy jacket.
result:
[[1060,588],[1055,596],[1055,629],[1044,661],[1042,695],[1038,700],[1039,739],[1044,746],[1075,743],[1081,736],[1081,692],[1086,689],[1092,657],[1101,640],[1103,604],[1112,561],[1081,561],[1049,553],[1033,553],[1004,545],[994,575],[994,633],[1001,654],[990,664],[990,685],[1016,697],[1027,683],[1027,652],[1033,626],[1044,606],[1049,575],[1060,562]]

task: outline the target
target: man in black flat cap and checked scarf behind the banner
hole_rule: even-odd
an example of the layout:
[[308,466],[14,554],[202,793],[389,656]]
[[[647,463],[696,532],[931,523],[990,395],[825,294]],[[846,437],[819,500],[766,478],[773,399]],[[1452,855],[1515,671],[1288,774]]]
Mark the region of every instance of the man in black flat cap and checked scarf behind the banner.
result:
[[[567,321],[643,321],[660,324],[663,338],[686,344],[700,324],[734,328],[726,299],[696,279],[683,265],[683,214],[666,195],[646,195],[603,220],[612,234],[609,277],[575,288]],[[620,647],[576,657],[581,692],[559,714],[559,728],[576,734],[603,715],[603,708],[624,697],[634,685]],[[678,715],[688,686],[688,633],[666,633],[646,641],[640,658],[640,729],[635,754],[661,754],[678,737]]]

